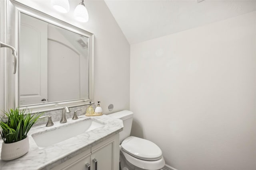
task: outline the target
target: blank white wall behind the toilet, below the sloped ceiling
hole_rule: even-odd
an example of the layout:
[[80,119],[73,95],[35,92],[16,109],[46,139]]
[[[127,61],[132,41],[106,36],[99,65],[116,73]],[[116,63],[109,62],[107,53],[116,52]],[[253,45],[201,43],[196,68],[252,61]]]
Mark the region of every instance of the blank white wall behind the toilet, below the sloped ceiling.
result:
[[178,170],[256,169],[256,12],[131,45],[132,135]]

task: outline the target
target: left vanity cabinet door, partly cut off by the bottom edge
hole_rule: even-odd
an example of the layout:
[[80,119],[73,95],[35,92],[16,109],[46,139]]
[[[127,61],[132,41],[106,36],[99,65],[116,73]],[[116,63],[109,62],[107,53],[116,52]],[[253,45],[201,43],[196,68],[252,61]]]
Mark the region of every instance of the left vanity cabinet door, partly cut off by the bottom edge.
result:
[[90,170],[90,149],[82,152],[69,160],[55,166],[51,170]]

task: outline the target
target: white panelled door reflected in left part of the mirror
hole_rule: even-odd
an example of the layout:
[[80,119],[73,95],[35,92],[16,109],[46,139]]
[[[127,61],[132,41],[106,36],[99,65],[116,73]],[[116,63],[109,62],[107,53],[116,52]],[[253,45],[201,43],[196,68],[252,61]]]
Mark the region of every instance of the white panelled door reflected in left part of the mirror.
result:
[[20,106],[46,103],[48,23],[25,14],[20,18]]

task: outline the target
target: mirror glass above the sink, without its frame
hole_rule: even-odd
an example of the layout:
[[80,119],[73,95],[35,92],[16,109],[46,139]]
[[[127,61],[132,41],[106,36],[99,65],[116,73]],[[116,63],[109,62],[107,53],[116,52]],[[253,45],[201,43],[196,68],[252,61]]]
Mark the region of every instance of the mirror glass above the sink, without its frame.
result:
[[89,98],[88,37],[20,13],[19,106]]

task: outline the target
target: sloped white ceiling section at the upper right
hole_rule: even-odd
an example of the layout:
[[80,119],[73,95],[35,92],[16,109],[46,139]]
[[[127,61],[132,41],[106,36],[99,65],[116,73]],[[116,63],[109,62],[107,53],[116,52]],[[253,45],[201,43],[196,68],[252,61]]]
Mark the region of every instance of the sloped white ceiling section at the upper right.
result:
[[256,10],[256,0],[105,0],[130,44]]

